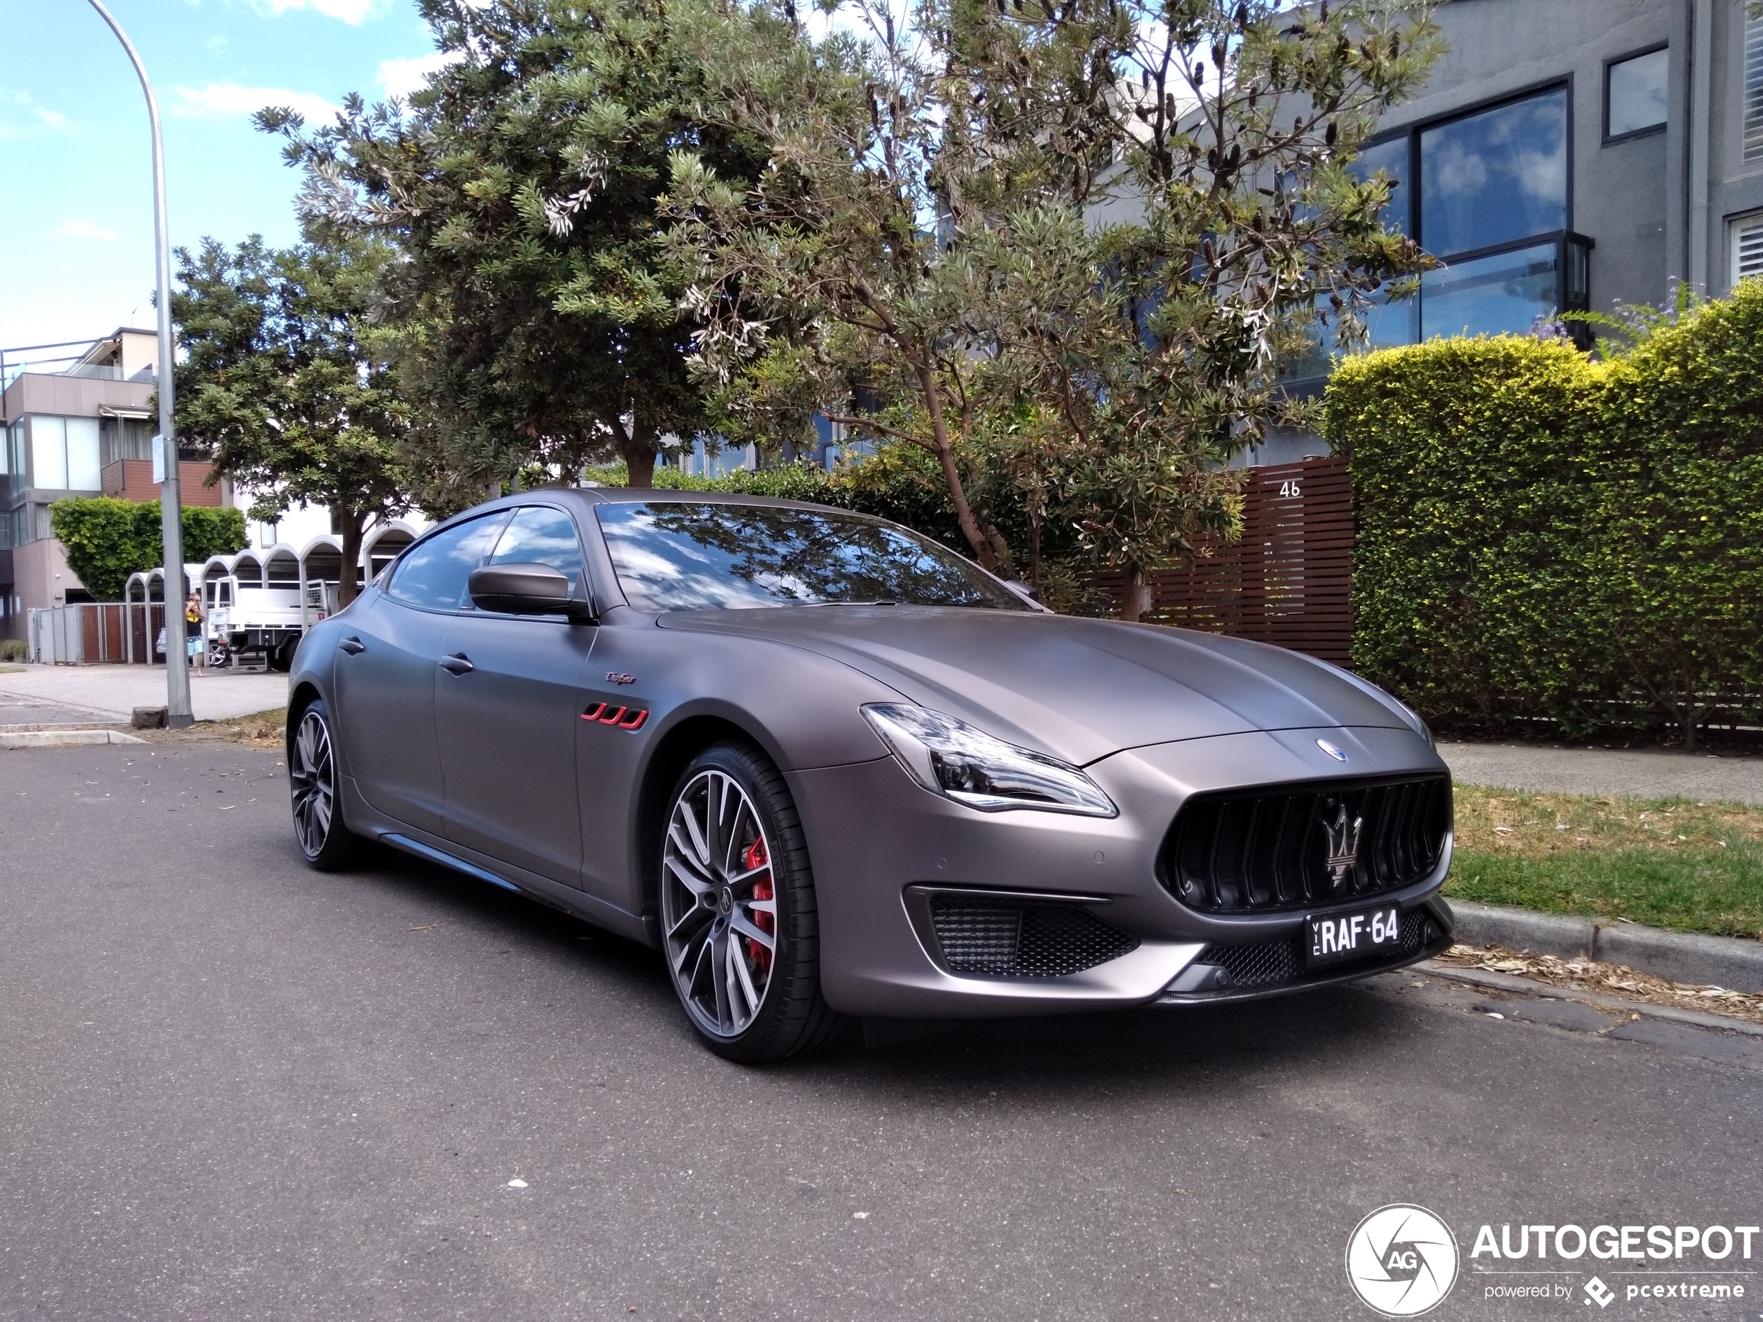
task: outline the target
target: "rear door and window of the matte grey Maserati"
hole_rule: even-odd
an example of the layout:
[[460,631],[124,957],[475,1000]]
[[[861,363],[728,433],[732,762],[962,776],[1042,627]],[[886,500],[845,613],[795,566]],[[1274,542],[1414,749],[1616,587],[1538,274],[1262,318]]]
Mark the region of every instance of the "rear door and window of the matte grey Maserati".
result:
[[465,580],[508,511],[453,524],[404,553],[338,636],[338,733],[349,772],[386,816],[444,834],[446,786],[435,742],[435,679]]

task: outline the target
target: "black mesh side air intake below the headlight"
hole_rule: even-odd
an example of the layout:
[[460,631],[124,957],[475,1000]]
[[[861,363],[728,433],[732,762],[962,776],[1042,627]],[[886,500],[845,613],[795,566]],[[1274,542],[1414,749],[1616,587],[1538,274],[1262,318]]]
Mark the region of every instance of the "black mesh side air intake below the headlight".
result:
[[1137,950],[1139,938],[1079,904],[940,894],[931,925],[950,973],[1063,978]]

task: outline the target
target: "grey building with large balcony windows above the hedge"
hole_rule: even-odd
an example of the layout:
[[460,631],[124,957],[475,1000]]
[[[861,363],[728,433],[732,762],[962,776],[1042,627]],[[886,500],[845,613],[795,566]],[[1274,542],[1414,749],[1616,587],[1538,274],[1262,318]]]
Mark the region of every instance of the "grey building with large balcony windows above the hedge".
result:
[[[1763,275],[1763,16],[1744,0],[1454,0],[1437,21],[1447,53],[1361,160],[1442,266],[1377,310],[1375,347]],[[1328,370],[1319,347],[1291,390]],[[1250,462],[1315,453],[1278,434]]]

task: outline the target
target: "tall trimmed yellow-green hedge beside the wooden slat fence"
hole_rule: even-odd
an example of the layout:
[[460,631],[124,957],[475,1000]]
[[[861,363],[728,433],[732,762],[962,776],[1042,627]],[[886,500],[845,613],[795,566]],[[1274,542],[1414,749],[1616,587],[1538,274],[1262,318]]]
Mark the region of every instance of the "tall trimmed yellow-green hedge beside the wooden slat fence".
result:
[[1342,363],[1354,668],[1433,721],[1581,735],[1763,707],[1763,282],[1610,363],[1518,337]]

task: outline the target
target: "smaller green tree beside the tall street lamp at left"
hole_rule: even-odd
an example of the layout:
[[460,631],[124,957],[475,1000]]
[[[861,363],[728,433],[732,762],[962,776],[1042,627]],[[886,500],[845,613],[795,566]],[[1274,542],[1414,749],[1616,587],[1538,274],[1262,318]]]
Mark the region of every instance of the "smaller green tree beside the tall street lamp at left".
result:
[[[368,328],[390,250],[360,238],[275,250],[252,236],[176,257],[180,441],[256,495],[252,518],[330,506],[354,566],[368,522],[411,506],[409,409]],[[347,568],[338,596],[354,599]]]

